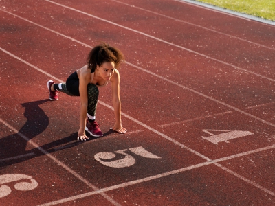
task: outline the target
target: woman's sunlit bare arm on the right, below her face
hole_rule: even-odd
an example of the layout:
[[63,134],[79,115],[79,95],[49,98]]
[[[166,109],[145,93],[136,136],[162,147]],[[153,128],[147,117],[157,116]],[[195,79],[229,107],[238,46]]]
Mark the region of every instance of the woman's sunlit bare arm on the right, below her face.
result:
[[111,78],[112,86],[112,98],[113,98],[113,108],[115,111],[115,125],[113,130],[118,133],[126,133],[126,129],[122,127],[121,121],[121,102],[120,102],[120,73],[118,70],[115,70]]

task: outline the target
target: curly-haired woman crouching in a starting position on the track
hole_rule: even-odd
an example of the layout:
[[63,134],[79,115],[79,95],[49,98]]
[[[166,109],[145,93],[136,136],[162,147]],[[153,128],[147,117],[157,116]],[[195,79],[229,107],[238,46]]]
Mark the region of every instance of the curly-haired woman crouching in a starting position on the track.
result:
[[87,133],[94,137],[102,137],[103,134],[96,122],[96,105],[98,103],[98,87],[104,87],[111,82],[113,108],[115,111],[115,124],[113,130],[118,133],[126,133],[121,122],[120,104],[120,73],[118,67],[124,56],[119,49],[109,47],[102,43],[91,50],[87,58],[87,65],[78,69],[67,78],[66,83],[54,84],[52,80],[47,82],[50,91],[50,100],[58,100],[57,91],[72,96],[80,96],[80,128],[78,140],[89,139]]

